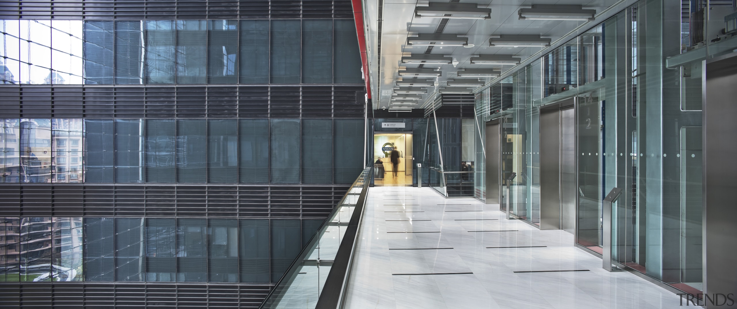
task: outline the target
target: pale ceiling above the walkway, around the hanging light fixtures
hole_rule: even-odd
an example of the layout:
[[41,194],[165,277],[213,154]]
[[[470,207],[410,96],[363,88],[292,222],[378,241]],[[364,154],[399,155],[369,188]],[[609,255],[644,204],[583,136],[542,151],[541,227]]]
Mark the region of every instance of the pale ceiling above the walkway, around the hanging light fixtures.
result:
[[[447,2],[447,0],[438,0]],[[435,1],[433,1],[435,2]],[[511,47],[511,46],[489,46],[489,38],[492,35],[541,35],[542,38],[551,38],[553,42],[567,35],[573,29],[584,23],[598,24],[603,19],[596,21],[520,21],[517,11],[523,7],[531,7],[532,4],[581,4],[585,9],[596,10],[597,13],[618,2],[617,0],[593,0],[593,1],[565,1],[565,0],[493,0],[493,1],[469,1],[464,3],[476,3],[479,7],[492,9],[491,19],[445,19],[447,24],[441,27],[443,34],[455,34],[469,38],[472,48],[462,46],[433,46],[430,54],[444,54],[454,57],[458,65],[454,68],[452,64],[423,64],[424,68],[440,68],[442,76],[437,78],[438,86],[427,88],[427,94],[422,94],[418,104],[411,107],[423,107],[429,98],[436,95],[439,88],[446,87],[448,79],[457,79],[455,72],[462,68],[495,68],[507,71],[514,65],[478,65],[469,62],[472,55],[479,54],[511,54],[522,60],[541,51],[542,47]],[[416,18],[415,7],[426,6],[427,1],[409,0],[364,0],[363,15],[366,18],[367,48],[368,48],[368,71],[371,77],[371,97],[374,109],[388,108],[391,95],[399,77],[398,71],[405,68],[418,68],[419,63],[401,63],[402,56],[411,54],[424,54],[428,46],[407,46],[407,38],[419,33],[436,33],[439,31],[441,18]],[[381,7],[381,16],[379,16]],[[380,31],[381,30],[381,31]],[[380,51],[380,54],[379,52]],[[406,78],[406,77],[405,77]],[[424,78],[424,77],[423,77]],[[469,79],[471,77],[463,77]],[[434,79],[427,77],[427,79]],[[475,78],[472,78],[475,79]],[[483,82],[489,82],[493,77],[478,78]],[[471,87],[474,88],[474,87]]]

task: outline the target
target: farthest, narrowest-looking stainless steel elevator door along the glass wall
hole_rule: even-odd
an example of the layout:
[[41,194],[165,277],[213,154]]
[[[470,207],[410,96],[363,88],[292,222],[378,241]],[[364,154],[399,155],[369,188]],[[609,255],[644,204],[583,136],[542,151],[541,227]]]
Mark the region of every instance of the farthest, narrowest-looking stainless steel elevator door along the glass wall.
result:
[[499,124],[486,124],[486,204],[501,201],[501,149]]

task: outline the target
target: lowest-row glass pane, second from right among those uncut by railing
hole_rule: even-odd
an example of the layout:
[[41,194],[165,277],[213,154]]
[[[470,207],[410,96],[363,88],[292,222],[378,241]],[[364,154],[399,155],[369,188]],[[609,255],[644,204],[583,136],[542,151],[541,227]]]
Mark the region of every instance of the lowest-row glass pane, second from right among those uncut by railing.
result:
[[238,282],[238,219],[209,219],[207,259],[210,282]]

